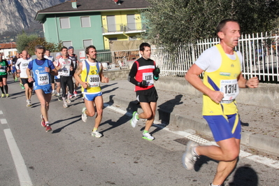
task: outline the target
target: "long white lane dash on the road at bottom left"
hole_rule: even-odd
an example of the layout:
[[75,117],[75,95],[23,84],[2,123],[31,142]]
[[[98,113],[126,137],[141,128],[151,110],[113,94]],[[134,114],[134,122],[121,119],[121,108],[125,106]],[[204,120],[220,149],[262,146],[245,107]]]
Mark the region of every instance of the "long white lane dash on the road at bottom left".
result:
[[4,129],[6,140],[8,142],[8,147],[10,148],[10,153],[13,157],[13,162],[15,163],[15,169],[17,170],[17,176],[20,180],[20,186],[33,185],[27,171],[27,167],[24,163],[24,159],[20,153],[15,138],[13,138],[12,131],[10,129]]

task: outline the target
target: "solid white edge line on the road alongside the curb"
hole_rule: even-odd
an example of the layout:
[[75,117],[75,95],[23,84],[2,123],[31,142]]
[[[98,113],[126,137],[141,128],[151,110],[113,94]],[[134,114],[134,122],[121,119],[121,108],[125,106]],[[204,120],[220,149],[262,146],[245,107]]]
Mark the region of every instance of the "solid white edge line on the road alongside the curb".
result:
[[[121,113],[123,115],[128,115],[128,116],[132,116],[131,113],[128,113],[127,111],[124,111],[120,108],[116,108],[115,106],[111,106],[110,104],[108,103],[104,103],[103,104],[106,108],[110,108],[112,110],[115,110],[116,112],[118,113]],[[188,138],[192,141],[195,141],[196,143],[200,143],[200,144],[203,144],[203,145],[217,145],[215,143],[215,141],[207,141],[206,139],[203,139],[199,136],[196,136],[195,134],[190,134],[188,132],[185,132],[185,131],[171,131],[168,127],[164,127],[162,126],[161,124],[159,124],[158,121],[154,121],[156,124],[153,124],[155,127],[159,127],[161,129],[164,129],[166,131],[170,131],[174,134],[178,134],[180,136],[185,136],[185,138]],[[259,162],[261,164],[265,164],[266,166],[270,166],[270,167],[273,167],[275,169],[279,169],[279,161],[278,160],[274,160],[274,159],[270,159],[270,158],[267,158],[267,157],[260,157],[258,155],[252,155],[248,152],[244,152],[241,150],[240,154],[239,154],[239,157],[243,157],[243,158],[247,158],[247,159],[250,159],[254,162]]]

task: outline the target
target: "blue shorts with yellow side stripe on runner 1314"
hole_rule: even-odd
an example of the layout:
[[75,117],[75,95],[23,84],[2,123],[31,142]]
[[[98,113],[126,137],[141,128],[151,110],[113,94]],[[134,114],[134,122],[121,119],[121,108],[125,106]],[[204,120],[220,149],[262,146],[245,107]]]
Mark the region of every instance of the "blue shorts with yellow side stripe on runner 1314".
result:
[[241,120],[238,114],[203,115],[212,131],[215,141],[229,138],[241,139]]

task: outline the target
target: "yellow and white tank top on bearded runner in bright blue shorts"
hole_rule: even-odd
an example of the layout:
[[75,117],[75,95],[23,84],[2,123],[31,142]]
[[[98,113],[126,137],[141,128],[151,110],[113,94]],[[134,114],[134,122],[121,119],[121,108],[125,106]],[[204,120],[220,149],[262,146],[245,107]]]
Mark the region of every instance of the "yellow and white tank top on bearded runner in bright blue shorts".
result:
[[100,87],[100,64],[96,62],[94,64],[84,60],[83,71],[80,73],[80,78],[83,82],[88,83],[88,87],[85,89],[81,88],[84,94],[98,94],[101,92]]

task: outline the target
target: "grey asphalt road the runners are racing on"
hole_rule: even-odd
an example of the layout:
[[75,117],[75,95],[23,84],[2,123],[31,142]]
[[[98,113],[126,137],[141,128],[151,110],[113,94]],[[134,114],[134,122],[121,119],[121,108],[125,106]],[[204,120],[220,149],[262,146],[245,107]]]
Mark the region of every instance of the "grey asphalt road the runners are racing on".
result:
[[[185,136],[152,127],[156,139],[146,141],[144,122],[132,128],[129,113],[115,107],[104,108],[103,137],[94,138],[94,118],[80,119],[82,99],[63,108],[53,96],[52,132],[45,132],[36,95],[27,107],[24,90],[10,77],[10,97],[0,99],[0,185],[209,185],[213,180],[217,162],[212,159],[201,157],[193,171],[184,169]],[[278,169],[241,157],[226,183],[279,185],[278,175]]]

